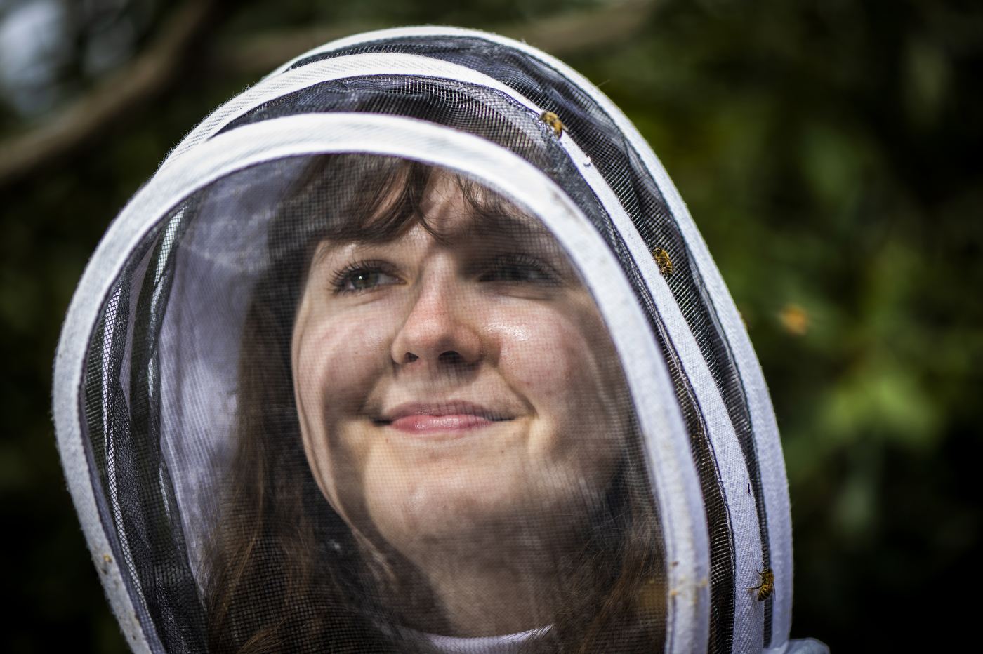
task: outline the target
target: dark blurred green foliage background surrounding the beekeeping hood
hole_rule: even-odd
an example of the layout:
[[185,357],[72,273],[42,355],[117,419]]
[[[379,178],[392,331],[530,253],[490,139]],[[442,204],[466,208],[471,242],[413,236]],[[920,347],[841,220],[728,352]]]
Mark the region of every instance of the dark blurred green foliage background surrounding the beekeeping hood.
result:
[[0,0],[0,20],[39,1],[65,8],[47,68],[0,81],[0,650],[126,650],[49,409],[61,321],[108,223],[188,130],[278,63],[426,23],[557,54],[665,163],[779,416],[792,636],[915,651],[975,624],[983,4]]

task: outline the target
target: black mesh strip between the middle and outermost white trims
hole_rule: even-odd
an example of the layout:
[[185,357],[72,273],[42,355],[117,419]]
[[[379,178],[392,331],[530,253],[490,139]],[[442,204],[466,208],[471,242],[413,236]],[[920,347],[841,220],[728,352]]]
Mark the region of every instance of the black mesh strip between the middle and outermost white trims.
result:
[[[638,153],[626,142],[620,130],[597,103],[554,69],[524,52],[481,37],[414,36],[385,39],[320,53],[297,62],[293,68],[321,59],[368,52],[415,54],[458,64],[488,75],[516,89],[543,109],[556,113],[567,127],[570,136],[591,156],[607,184],[618,195],[622,206],[650,250],[662,247],[668,252],[675,266],[675,272],[668,279],[669,288],[721,391],[755,489],[761,530],[762,560],[763,565],[769,567],[771,554],[768,518],[764,506],[753,427],[743,386],[703,280],[693,265],[692,256],[665,206],[662,194],[645,172]],[[683,394],[680,389],[681,401],[683,401]],[[693,424],[689,416],[686,416],[686,419],[688,423]],[[694,456],[698,463],[702,459],[699,451],[703,447],[694,444]],[[702,477],[706,477],[711,474],[711,470],[701,468],[700,473]],[[723,542],[723,525],[715,526],[725,514],[723,507],[719,511],[709,508],[715,502],[714,499],[707,501],[714,570],[712,572],[715,595],[713,611],[717,623],[717,628],[714,629],[717,634],[714,650],[728,652],[730,651],[728,629],[733,617],[733,575],[732,572],[724,572],[723,569],[729,567],[732,571],[733,546],[732,543]],[[729,534],[729,530],[727,533]],[[729,535],[725,540],[730,540]],[[766,647],[771,642],[772,610],[773,599],[769,598],[765,604],[764,644]]]

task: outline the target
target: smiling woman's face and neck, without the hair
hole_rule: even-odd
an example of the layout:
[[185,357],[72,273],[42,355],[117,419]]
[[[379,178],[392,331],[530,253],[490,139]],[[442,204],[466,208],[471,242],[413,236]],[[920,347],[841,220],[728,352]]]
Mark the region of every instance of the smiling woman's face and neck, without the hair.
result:
[[625,450],[618,357],[538,221],[477,216],[443,173],[423,207],[427,227],[314,253],[291,353],[308,462],[405,626],[545,627]]

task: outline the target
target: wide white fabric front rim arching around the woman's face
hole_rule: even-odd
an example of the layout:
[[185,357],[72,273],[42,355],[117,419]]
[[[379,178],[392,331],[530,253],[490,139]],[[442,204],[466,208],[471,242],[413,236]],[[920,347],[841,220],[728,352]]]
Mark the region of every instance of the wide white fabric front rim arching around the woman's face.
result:
[[[671,588],[667,651],[706,648],[709,546],[702,496],[682,416],[659,353],[617,261],[577,206],[534,166],[478,136],[422,121],[371,114],[310,114],[244,126],[202,143],[184,165],[162,169],[137,193],[96,248],[69,307],[56,361],[56,419],[73,497],[98,539],[82,446],[79,381],[102,300],[131,252],[163,215],[190,193],[236,170],[283,157],[323,152],[372,152],[417,159],[473,175],[541,217],[570,253],[598,301],[618,350],[647,445],[664,522]],[[87,506],[91,505],[91,506]],[[112,601],[128,601],[122,584],[106,585]],[[141,632],[144,641],[147,638]],[[135,647],[144,651],[143,647]]]

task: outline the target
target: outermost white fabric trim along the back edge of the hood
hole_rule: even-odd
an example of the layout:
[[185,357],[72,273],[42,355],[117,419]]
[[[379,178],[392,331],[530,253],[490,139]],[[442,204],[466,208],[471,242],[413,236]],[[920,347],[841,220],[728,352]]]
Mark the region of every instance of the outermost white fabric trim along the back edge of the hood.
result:
[[[788,482],[785,476],[784,458],[781,453],[781,439],[778,422],[772,408],[764,374],[758,362],[750,338],[740,320],[737,307],[723,283],[720,270],[710,255],[710,250],[700,236],[685,202],[672,184],[662,162],[653,152],[648,142],[639,134],[635,126],[610,101],[597,86],[582,75],[571,69],[558,59],[549,56],[541,50],[525,43],[474,29],[455,27],[396,27],[356,34],[340,38],[318,46],[279,67],[270,73],[265,80],[284,74],[291,66],[299,61],[317,54],[341,50],[359,43],[376,40],[399,38],[405,36],[472,36],[493,43],[506,45],[539,59],[550,68],[557,71],[569,82],[587,93],[601,107],[614,124],[624,133],[628,142],[642,158],[650,174],[663,192],[665,202],[679,225],[680,232],[690,248],[697,263],[700,275],[703,277],[707,292],[717,310],[721,321],[724,337],[730,346],[737,365],[738,373],[747,396],[751,422],[754,426],[755,446],[764,491],[764,504],[768,516],[769,549],[771,552],[771,567],[775,572],[776,592],[772,618],[772,646],[780,646],[788,639],[791,627],[792,599],[792,551],[791,551],[791,510],[788,500]],[[303,68],[306,68],[303,67]],[[755,585],[755,584],[751,584]]]

